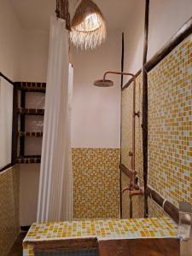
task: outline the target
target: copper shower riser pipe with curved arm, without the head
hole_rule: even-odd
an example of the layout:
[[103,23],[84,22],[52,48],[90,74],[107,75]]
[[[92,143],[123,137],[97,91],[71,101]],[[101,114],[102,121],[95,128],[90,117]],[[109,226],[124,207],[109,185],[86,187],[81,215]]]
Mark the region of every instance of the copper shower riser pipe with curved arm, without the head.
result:
[[[131,155],[131,169],[132,171],[136,171],[136,76],[133,73],[124,73],[124,72],[115,72],[115,71],[107,71],[103,75],[103,81],[106,80],[106,76],[109,73],[113,74],[121,74],[131,76],[133,80],[133,114],[132,114],[132,155]],[[135,188],[135,174],[131,178],[131,190]]]

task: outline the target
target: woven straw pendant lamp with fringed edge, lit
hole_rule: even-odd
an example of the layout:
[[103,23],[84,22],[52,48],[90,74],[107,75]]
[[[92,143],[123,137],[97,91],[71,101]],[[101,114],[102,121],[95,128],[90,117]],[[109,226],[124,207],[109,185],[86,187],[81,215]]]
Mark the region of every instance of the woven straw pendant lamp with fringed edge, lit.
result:
[[101,10],[91,0],[81,0],[71,24],[70,38],[80,49],[95,49],[107,36]]

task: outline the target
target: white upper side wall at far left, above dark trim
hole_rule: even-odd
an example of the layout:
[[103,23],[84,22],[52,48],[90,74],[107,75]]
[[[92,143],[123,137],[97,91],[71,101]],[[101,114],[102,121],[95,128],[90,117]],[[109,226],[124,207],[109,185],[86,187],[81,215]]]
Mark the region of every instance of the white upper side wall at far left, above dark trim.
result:
[[8,0],[0,0],[0,72],[20,78],[22,29]]

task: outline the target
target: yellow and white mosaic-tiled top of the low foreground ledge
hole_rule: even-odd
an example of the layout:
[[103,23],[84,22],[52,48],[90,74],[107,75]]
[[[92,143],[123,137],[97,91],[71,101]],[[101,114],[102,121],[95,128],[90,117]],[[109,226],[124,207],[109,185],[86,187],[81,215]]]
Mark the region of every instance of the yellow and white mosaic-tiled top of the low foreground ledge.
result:
[[32,224],[24,248],[30,241],[96,237],[105,239],[176,237],[177,225],[170,218],[91,219]]

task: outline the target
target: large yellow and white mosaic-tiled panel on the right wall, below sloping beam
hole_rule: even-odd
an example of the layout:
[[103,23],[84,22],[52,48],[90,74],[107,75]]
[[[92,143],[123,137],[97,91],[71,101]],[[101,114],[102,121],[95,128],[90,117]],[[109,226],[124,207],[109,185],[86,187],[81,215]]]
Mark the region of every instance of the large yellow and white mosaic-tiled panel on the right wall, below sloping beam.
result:
[[192,203],[192,35],[148,74],[148,184]]

